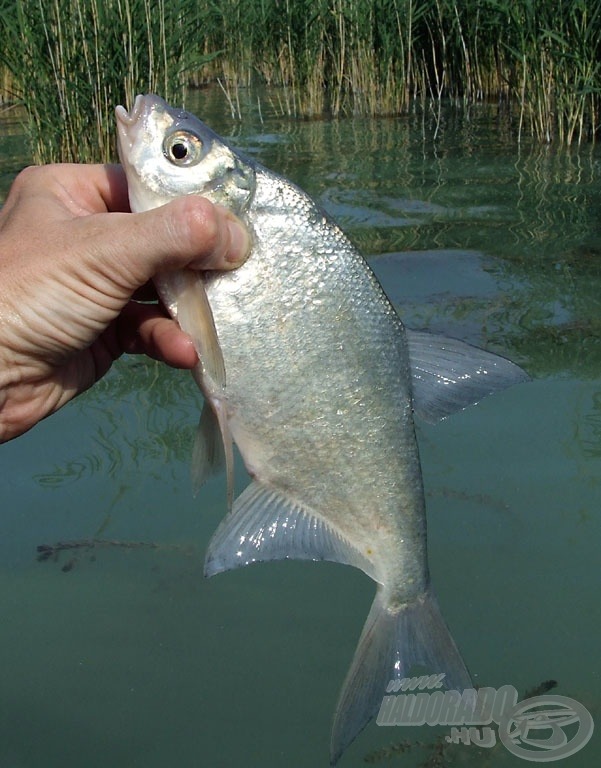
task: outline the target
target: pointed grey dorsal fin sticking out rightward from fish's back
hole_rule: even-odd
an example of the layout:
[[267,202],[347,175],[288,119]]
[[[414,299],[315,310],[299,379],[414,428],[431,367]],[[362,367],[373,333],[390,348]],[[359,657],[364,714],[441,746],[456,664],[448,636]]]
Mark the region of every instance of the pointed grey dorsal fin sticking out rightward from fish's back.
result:
[[413,383],[413,409],[435,422],[474,405],[483,397],[528,381],[504,357],[434,333],[407,330]]

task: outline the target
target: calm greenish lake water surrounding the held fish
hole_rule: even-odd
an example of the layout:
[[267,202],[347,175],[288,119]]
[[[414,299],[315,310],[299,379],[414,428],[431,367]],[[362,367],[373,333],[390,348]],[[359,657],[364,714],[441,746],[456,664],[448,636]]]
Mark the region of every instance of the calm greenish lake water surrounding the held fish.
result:
[[[523,695],[553,679],[598,718],[600,151],[518,149],[478,110],[289,122],[264,97],[263,123],[254,100],[235,122],[218,95],[198,98],[339,220],[409,326],[531,374],[419,426],[431,570],[476,684]],[[5,192],[26,162],[11,113],[0,135]],[[225,494],[216,479],[192,498],[198,410],[187,375],[123,359],[0,447],[0,768],[327,765],[373,584],[297,562],[204,580]],[[37,559],[38,545],[93,539]],[[439,731],[371,724],[341,765],[425,764]],[[569,765],[600,757],[594,735]],[[502,746],[441,760],[524,764]]]

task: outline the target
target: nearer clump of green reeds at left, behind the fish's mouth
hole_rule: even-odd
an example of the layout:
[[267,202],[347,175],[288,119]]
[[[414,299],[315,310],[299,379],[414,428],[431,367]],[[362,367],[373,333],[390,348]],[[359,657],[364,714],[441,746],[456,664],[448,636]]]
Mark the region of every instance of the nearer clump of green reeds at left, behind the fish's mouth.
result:
[[114,159],[114,109],[136,93],[181,101],[198,35],[184,0],[4,0],[2,63],[34,162]]

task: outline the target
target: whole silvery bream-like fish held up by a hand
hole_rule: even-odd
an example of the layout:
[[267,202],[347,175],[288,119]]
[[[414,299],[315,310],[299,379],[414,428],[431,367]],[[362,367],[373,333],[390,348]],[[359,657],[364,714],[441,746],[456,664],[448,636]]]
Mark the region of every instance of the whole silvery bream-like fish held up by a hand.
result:
[[[335,707],[334,765],[414,667],[471,687],[430,580],[415,418],[446,418],[528,377],[460,340],[406,329],[320,206],[190,112],[147,94],[116,119],[133,212],[201,195],[238,216],[252,242],[235,270],[155,279],[199,357],[195,482],[226,467],[228,511],[205,575],[329,560],[376,582]],[[235,499],[234,443],[250,476]]]

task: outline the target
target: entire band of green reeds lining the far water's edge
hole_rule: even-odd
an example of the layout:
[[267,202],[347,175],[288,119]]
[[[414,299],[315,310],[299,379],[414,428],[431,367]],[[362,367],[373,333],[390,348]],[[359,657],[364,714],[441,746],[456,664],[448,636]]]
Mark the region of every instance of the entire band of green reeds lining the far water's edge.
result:
[[113,110],[255,85],[294,118],[397,116],[493,102],[516,142],[595,141],[598,0],[0,0],[0,100],[35,162],[114,158]]

